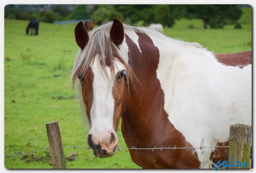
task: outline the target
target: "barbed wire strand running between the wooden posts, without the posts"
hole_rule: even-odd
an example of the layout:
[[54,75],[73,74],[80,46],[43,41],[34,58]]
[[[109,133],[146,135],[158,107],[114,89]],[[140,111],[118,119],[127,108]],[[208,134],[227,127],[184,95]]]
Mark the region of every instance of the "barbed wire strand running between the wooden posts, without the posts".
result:
[[[186,149],[186,150],[189,150],[189,149],[200,149],[202,150],[203,148],[228,148],[229,146],[207,146],[207,147],[202,147],[201,145],[199,147],[176,147],[177,145],[174,145],[173,147],[163,147],[163,145],[161,147],[157,147],[154,146],[152,148],[136,148],[134,146],[132,146],[132,148],[122,148],[122,147],[118,147],[117,146],[117,150],[152,150],[152,152],[155,150],[160,150],[162,151],[163,149],[172,149],[173,151],[176,150],[176,149]],[[74,149],[77,149],[77,148],[82,148],[82,149],[88,149],[90,150],[91,148],[89,146],[86,146],[86,147],[83,147],[83,146],[63,146],[63,148],[74,148]],[[23,155],[25,156],[25,154],[31,154],[31,153],[36,153],[39,152],[39,151],[43,151],[43,150],[49,150],[50,147],[46,147],[44,149],[40,149],[40,150],[33,150],[33,151],[30,151],[30,152],[26,152],[26,153],[19,153],[19,154],[6,154],[4,155],[5,157],[11,157],[11,156],[19,156],[19,155]]]

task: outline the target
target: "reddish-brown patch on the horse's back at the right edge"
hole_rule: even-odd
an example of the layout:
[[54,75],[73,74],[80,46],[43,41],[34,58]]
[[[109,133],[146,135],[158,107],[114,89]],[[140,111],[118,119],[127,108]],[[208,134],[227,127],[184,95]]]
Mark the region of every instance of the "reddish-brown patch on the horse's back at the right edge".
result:
[[218,62],[227,66],[239,66],[240,68],[244,68],[244,66],[252,64],[251,50],[238,53],[214,54],[214,56]]

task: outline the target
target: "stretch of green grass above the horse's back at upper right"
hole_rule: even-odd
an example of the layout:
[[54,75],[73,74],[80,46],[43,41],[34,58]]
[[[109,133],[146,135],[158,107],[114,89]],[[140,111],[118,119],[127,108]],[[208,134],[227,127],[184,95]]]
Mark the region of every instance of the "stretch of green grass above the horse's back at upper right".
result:
[[[226,25],[224,29],[203,29],[203,21],[199,19],[181,19],[175,21],[173,28],[165,28],[164,34],[187,42],[198,42],[214,53],[234,53],[251,49],[252,45],[252,9],[242,8],[243,14],[239,22],[242,29],[234,29],[234,25]],[[188,29],[190,24],[194,29]]]

